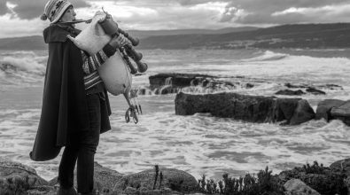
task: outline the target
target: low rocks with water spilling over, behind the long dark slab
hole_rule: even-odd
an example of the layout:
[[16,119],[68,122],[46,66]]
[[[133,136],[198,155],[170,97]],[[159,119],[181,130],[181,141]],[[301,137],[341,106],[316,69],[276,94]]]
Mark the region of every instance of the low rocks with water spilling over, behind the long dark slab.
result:
[[[261,85],[261,83],[267,82],[243,76],[218,77],[208,74],[155,74],[149,77],[149,81],[150,86],[137,89],[138,95],[165,95],[180,91],[212,93],[237,89],[250,90]],[[309,85],[289,82],[281,83],[281,88],[284,88],[284,90],[276,91],[276,95],[325,95],[326,92],[323,90],[343,90],[341,86],[335,84]]]

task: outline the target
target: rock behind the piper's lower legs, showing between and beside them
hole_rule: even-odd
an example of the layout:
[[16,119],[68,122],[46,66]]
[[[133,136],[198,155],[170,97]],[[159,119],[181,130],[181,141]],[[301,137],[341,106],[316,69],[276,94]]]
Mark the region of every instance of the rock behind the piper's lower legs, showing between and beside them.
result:
[[[113,186],[116,182],[118,182],[123,175],[115,170],[110,168],[102,167],[100,164],[95,162],[94,165],[94,188],[100,192],[108,192],[112,191]],[[53,178],[50,181],[50,185],[58,184],[58,177]],[[76,184],[76,169],[74,171],[74,186],[77,187]]]

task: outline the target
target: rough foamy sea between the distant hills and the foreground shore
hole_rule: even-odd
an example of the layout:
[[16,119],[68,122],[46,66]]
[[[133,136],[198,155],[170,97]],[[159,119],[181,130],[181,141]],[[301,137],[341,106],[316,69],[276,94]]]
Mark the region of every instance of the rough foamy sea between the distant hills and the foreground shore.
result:
[[[253,88],[191,90],[186,93],[237,92],[274,96],[285,83],[315,86],[326,95],[307,93],[314,108],[323,99],[350,99],[350,49],[280,50],[143,50],[149,66],[133,77],[134,89],[148,89],[149,76],[160,73],[209,74],[252,83]],[[58,175],[61,153],[54,160],[29,159],[41,115],[47,51],[0,51],[0,159],[35,168],[51,180]],[[327,84],[338,86],[323,87]],[[193,89],[193,88],[192,88]],[[305,89],[304,89],[305,90]],[[134,99],[143,114],[127,123],[128,104],[110,95],[112,130],[100,137],[95,160],[130,174],[154,168],[176,168],[199,179],[227,173],[238,177],[268,167],[273,174],[315,160],[329,166],[350,156],[350,127],[342,121],[307,121],[296,126],[251,123],[208,113],[175,115],[175,95],[147,90]],[[282,98],[295,98],[277,96]]]

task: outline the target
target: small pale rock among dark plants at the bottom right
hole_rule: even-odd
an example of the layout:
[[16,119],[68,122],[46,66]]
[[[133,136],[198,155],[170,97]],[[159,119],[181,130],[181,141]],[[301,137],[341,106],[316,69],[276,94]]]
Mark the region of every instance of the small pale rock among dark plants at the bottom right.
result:
[[321,195],[299,179],[289,180],[284,183],[284,188],[286,191],[289,191],[291,195]]

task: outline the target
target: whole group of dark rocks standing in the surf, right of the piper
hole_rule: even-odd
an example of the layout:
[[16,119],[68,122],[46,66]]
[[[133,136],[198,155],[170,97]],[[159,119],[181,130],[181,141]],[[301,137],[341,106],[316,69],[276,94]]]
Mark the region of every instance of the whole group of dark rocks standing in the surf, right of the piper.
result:
[[[284,90],[276,91],[281,96],[250,96],[234,92],[250,90],[262,80],[244,77],[217,77],[206,74],[155,74],[149,77],[149,91],[165,95],[176,93],[175,114],[191,115],[211,113],[213,116],[233,118],[249,122],[279,122],[282,125],[298,125],[310,120],[341,120],[350,125],[350,100],[325,99],[318,103],[316,111],[306,99],[284,98],[312,94],[323,96],[324,90],[344,90],[336,84],[281,84]],[[322,90],[320,90],[322,89]],[[147,94],[146,89],[138,90]]]

